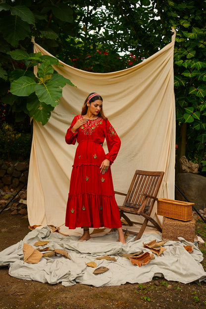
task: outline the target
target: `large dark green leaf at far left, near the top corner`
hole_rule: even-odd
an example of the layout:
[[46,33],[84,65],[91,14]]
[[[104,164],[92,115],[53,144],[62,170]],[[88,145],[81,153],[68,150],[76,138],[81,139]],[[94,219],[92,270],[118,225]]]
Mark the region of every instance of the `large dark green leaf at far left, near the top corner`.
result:
[[30,33],[29,24],[13,15],[0,20],[0,30],[4,39],[14,47]]

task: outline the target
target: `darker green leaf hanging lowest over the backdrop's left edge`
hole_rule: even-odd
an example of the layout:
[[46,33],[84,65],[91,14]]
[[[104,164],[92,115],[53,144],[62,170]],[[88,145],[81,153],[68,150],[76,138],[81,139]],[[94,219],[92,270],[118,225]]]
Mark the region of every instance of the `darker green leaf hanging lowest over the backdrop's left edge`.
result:
[[39,123],[43,125],[47,124],[51,116],[51,111],[54,107],[44,102],[40,102],[36,94],[31,94],[27,99],[27,109],[29,116],[33,117]]

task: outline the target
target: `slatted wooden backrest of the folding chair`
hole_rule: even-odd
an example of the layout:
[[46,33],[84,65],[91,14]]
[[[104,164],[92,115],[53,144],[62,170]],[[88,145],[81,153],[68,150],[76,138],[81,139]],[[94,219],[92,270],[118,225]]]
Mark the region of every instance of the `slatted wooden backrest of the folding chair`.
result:
[[[143,200],[145,199],[145,196],[141,195],[140,193],[145,193],[156,197],[163,176],[164,172],[149,172],[137,170],[135,172],[123,205],[139,208],[142,205]],[[148,199],[147,209],[149,209],[149,212],[150,209],[152,209],[154,202],[155,200],[153,198]]]

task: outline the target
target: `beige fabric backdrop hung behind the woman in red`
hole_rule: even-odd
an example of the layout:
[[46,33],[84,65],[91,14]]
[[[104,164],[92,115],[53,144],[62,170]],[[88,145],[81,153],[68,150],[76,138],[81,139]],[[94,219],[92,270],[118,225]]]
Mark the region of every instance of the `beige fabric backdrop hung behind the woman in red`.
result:
[[[159,196],[174,198],[174,41],[175,35],[152,57],[117,72],[91,73],[63,62],[61,67],[54,66],[77,87],[63,88],[48,124],[34,121],[27,198],[30,225],[59,226],[65,222],[76,145],[67,145],[64,136],[90,92],[103,96],[104,113],[122,142],[112,165],[114,189],[127,192],[136,169],[164,171]],[[34,52],[50,55],[36,43]]]

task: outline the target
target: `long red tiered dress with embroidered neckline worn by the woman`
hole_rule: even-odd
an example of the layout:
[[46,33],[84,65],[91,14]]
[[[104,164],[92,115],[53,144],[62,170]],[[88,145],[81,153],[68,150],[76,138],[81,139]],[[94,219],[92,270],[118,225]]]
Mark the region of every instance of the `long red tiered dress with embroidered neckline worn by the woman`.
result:
[[[89,226],[93,228],[121,227],[119,209],[114,197],[111,169],[100,173],[104,159],[110,164],[116,158],[121,141],[108,120],[100,117],[82,125],[75,133],[71,128],[82,115],[75,116],[65,136],[67,144],[79,143],[71,173],[66,208],[69,229]],[[108,153],[105,155],[103,141],[106,138]]]

